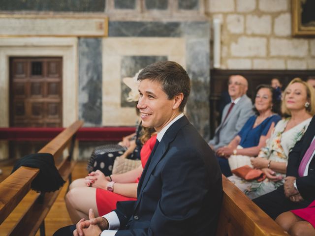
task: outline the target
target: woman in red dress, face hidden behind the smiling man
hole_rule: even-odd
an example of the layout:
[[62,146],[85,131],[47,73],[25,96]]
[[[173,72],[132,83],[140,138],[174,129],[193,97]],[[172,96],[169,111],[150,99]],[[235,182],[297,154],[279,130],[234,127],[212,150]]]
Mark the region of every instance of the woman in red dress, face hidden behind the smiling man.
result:
[[136,200],[139,177],[157,140],[157,135],[151,137],[154,129],[143,129],[145,133],[142,139],[146,139],[146,142],[140,153],[142,165],[124,174],[109,177],[97,170],[71,183],[65,204],[73,223],[82,218],[87,219],[90,208],[94,210],[95,216],[105,215],[116,209],[118,201]]

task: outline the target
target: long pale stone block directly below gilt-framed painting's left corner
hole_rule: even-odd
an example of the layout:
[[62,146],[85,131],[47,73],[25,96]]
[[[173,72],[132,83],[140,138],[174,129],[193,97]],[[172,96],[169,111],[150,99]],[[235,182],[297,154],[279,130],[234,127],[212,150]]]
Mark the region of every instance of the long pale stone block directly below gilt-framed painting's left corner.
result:
[[308,55],[308,49],[306,39],[270,39],[270,56],[305,57]]

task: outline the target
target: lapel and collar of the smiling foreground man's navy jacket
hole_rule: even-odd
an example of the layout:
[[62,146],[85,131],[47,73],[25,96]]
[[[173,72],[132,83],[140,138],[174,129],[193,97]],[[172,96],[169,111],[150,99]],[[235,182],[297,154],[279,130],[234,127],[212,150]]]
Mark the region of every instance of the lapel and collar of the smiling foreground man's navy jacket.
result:
[[168,149],[169,144],[174,140],[176,137],[178,131],[185,125],[189,124],[189,120],[186,116],[176,120],[165,132],[165,134],[162,137],[161,142],[159,143],[155,153],[153,156],[150,156],[143,172],[141,175],[141,178],[138,183],[138,189],[137,189],[137,204],[141,201],[142,191],[145,188],[146,184],[148,183],[149,177],[151,176],[153,170],[157,166],[158,162],[162,159],[162,157],[165,154],[165,151]]

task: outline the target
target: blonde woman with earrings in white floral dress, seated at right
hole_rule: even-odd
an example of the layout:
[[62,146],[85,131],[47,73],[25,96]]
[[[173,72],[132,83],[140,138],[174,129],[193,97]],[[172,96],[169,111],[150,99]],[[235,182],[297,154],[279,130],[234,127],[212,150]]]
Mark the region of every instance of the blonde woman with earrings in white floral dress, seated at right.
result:
[[284,90],[282,113],[288,118],[278,122],[266,147],[260,150],[258,157],[251,158],[252,166],[266,175],[265,180],[228,177],[249,198],[257,198],[284,184],[288,153],[301,139],[314,115],[313,93],[313,89],[299,78],[293,79]]

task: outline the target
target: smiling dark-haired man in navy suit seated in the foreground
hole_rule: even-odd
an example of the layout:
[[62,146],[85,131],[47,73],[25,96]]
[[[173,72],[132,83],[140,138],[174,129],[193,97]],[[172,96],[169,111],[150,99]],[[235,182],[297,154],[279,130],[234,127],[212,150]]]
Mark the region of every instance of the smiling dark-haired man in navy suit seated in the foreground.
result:
[[[222,199],[214,152],[183,114],[190,80],[172,61],[148,65],[138,76],[142,125],[154,127],[157,144],[143,170],[137,201],[81,220],[74,235],[211,236]],[[115,184],[113,185],[115,188]]]

